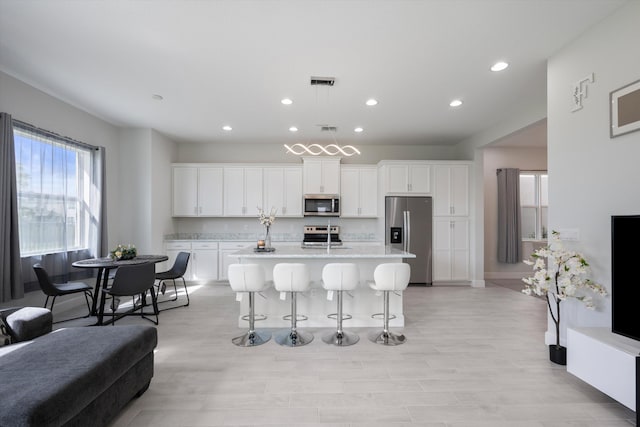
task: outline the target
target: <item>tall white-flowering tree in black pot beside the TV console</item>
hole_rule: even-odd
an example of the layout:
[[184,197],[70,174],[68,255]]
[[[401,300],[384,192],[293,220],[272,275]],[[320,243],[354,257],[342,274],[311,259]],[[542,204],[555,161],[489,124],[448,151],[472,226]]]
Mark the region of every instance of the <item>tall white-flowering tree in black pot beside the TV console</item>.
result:
[[526,283],[522,292],[546,297],[556,329],[556,343],[549,346],[549,358],[566,365],[567,349],[560,345],[560,304],[573,298],[593,310],[595,304],[589,293],[606,296],[607,291],[587,277],[589,263],[582,254],[566,250],[557,231],[551,232],[549,245],[536,250],[524,262],[533,266],[534,275],[522,279]]

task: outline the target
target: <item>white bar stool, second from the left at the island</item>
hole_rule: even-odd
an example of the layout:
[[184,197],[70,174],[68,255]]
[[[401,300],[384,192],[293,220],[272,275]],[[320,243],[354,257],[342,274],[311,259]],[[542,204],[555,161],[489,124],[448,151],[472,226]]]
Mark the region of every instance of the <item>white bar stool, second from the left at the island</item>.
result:
[[[287,347],[300,347],[313,341],[313,334],[297,329],[298,313],[296,308],[296,296],[298,292],[304,292],[310,287],[309,268],[306,264],[280,263],[273,267],[273,284],[279,292],[291,293],[291,329],[279,332],[275,336],[278,344]],[[301,316],[300,320],[306,320]]]

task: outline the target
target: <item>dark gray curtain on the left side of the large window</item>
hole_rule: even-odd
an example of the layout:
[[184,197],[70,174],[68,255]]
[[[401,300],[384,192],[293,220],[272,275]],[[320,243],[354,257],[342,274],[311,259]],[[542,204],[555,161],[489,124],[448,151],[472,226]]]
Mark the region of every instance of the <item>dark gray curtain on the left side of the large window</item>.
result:
[[0,113],[0,302],[24,297],[11,115]]

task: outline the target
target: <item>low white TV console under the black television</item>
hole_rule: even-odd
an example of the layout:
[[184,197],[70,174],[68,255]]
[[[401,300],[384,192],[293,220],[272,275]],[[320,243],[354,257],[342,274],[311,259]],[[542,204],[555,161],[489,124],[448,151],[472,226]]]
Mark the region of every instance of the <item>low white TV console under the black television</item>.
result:
[[636,420],[639,367],[639,341],[609,328],[567,328],[567,372],[636,411]]

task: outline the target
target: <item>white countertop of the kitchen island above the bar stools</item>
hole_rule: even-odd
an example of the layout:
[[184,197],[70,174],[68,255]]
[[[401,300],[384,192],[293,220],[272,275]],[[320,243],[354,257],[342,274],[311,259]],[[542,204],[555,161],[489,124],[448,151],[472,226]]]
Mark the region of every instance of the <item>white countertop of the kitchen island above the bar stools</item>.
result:
[[384,245],[368,245],[368,246],[349,246],[331,248],[307,249],[302,248],[300,244],[274,244],[274,252],[254,252],[253,247],[247,247],[234,252],[232,255],[236,258],[291,258],[291,259],[321,259],[321,258],[382,258],[382,259],[398,259],[398,258],[415,258],[416,256],[409,252],[404,252]]

